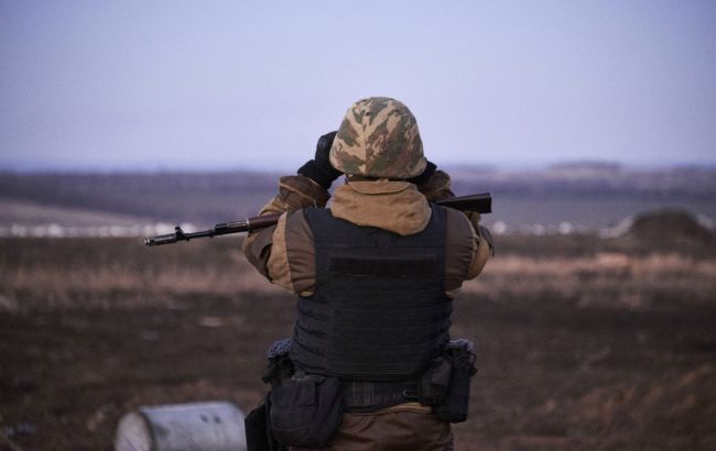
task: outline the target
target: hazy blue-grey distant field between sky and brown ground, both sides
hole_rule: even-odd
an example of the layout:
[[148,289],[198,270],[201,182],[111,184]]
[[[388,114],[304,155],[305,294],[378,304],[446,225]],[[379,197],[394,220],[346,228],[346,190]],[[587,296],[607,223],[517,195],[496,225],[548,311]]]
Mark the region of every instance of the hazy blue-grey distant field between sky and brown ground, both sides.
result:
[[[456,195],[491,191],[495,213],[485,221],[499,221],[509,232],[561,223],[594,231],[664,208],[716,218],[714,168],[637,170],[585,164],[525,172],[447,170]],[[0,237],[13,235],[13,224],[82,229],[162,221],[210,227],[256,215],[275,194],[276,180],[278,174],[247,172],[15,174],[0,168]]]

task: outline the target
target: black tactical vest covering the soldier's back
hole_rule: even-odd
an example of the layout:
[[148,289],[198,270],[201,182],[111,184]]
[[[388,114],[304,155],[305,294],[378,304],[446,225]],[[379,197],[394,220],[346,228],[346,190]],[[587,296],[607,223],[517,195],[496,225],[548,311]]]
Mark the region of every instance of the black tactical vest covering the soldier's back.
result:
[[316,285],[299,297],[290,358],[304,371],[358,381],[422,374],[449,340],[445,211],[401,237],[308,208]]

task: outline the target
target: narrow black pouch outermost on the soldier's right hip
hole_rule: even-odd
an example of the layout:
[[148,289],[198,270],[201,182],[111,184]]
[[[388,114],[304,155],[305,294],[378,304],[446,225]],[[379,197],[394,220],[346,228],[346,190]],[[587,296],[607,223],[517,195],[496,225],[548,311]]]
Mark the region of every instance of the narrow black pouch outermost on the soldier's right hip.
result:
[[451,363],[449,386],[444,400],[433,407],[438,419],[447,422],[467,420],[470,404],[470,378],[477,373],[469,340],[451,340],[443,358]]

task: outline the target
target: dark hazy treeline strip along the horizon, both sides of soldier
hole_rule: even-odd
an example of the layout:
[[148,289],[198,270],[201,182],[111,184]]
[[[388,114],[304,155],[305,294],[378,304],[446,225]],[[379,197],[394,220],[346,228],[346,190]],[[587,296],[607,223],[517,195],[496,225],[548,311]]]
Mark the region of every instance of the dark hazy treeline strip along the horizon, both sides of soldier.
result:
[[[638,196],[716,199],[716,169],[625,169],[615,165],[561,165],[541,170],[447,168],[458,195]],[[0,172],[0,197],[67,208],[131,215],[170,222],[221,222],[256,215],[278,188],[279,174],[12,173]]]

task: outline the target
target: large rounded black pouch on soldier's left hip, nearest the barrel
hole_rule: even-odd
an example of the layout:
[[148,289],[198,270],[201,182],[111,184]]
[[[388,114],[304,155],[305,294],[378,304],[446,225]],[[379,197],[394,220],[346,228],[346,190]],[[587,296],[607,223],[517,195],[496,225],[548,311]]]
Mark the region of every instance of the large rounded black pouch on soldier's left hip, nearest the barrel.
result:
[[340,380],[297,371],[269,394],[271,435],[293,447],[321,447],[343,418]]

